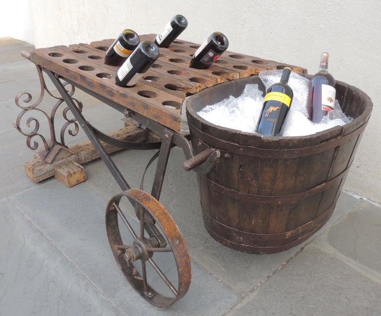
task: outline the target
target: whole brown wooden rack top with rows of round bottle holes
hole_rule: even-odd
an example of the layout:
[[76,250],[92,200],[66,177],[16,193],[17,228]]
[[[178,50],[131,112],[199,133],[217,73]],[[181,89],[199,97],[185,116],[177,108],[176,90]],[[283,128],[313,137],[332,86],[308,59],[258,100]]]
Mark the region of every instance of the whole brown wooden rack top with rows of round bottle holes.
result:
[[[153,40],[155,35],[141,35]],[[35,49],[29,59],[68,80],[113,102],[123,105],[175,131],[181,129],[181,105],[186,93],[196,93],[228,80],[247,77],[286,64],[238,53],[225,52],[209,69],[189,67],[191,54],[199,45],[175,41],[160,49],[160,57],[134,87],[115,84],[118,67],[104,64],[104,55],[113,39],[90,44]],[[307,73],[301,67],[295,71]]]

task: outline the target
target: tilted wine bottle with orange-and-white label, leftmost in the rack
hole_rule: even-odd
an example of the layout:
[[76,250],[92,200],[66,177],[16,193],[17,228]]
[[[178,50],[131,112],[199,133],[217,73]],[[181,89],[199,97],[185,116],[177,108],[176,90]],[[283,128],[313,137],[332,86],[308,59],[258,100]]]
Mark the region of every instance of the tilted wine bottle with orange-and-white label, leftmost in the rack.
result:
[[139,45],[139,36],[132,30],[124,30],[106,52],[105,64],[122,66],[128,55]]

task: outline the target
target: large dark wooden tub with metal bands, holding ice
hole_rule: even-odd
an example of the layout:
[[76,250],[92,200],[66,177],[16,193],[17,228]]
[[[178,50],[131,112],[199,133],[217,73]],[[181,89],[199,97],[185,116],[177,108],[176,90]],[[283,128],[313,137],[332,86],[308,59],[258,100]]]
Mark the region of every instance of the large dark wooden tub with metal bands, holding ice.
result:
[[353,121],[301,137],[261,137],[196,113],[251,83],[264,91],[252,76],[198,92],[187,100],[187,119],[195,154],[221,152],[209,173],[197,174],[206,230],[227,247],[271,254],[300,244],[329,219],[373,105],[361,90],[336,82],[336,99]]

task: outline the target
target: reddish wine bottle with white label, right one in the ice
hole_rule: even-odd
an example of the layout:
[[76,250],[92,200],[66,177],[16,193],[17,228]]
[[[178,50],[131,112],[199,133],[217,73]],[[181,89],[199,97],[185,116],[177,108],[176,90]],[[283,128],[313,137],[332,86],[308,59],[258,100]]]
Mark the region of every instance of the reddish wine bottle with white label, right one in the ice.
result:
[[311,78],[308,98],[310,120],[318,123],[335,106],[335,79],[328,73],[328,53],[321,53],[319,71]]

